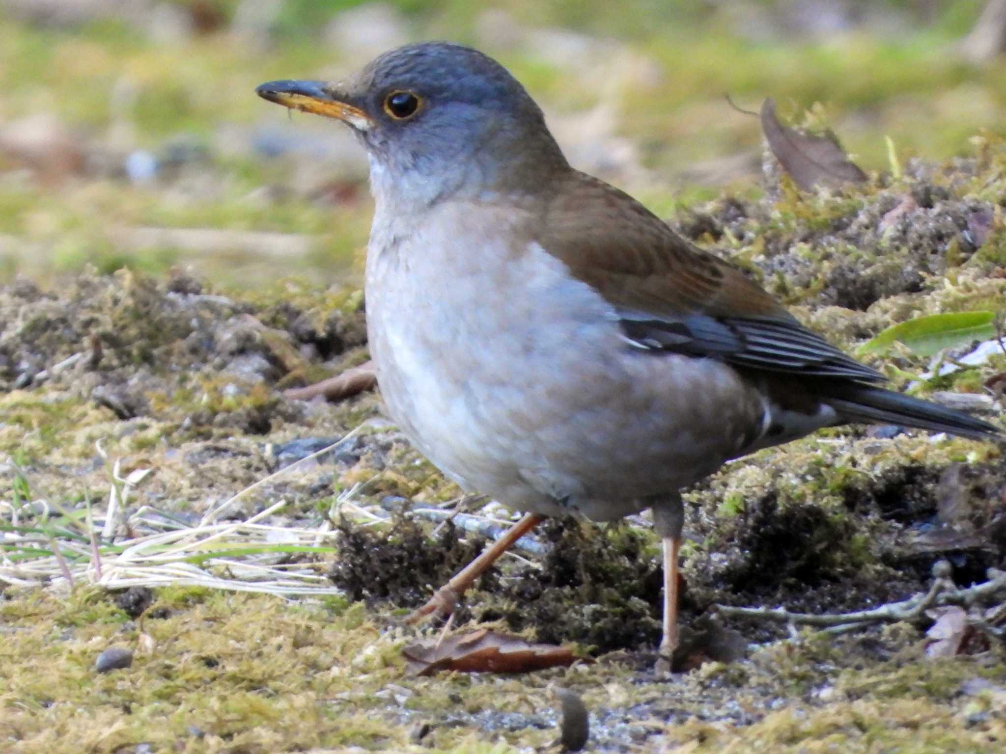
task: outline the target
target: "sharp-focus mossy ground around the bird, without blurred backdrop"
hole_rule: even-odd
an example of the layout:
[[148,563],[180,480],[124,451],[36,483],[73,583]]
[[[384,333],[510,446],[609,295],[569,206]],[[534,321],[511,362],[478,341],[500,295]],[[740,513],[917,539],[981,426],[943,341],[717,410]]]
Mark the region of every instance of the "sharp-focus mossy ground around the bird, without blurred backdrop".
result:
[[[981,180],[980,170],[969,168],[962,185]],[[926,180],[902,179],[899,190]],[[886,206],[887,196],[883,185],[834,196],[784,192],[775,200],[717,200],[694,212],[713,226],[732,223],[737,242],[720,246],[722,253],[756,273],[772,270],[796,292],[801,316],[846,348],[891,318],[989,306],[1006,293],[1002,267],[982,248],[928,271],[919,290],[862,309],[834,305],[826,288],[802,289],[799,279],[814,269],[826,274],[840,257],[821,252],[820,239],[787,250],[789,240],[826,227],[795,219],[795,206],[841,216],[854,200],[858,214],[879,217],[874,202]],[[919,227],[929,227],[927,213],[953,214],[955,201],[970,203],[969,196],[950,194],[940,207],[919,208]],[[996,243],[998,232],[986,243]],[[778,244],[771,254],[761,248],[766,238]],[[864,230],[858,245],[869,251],[875,243]],[[898,269],[931,256],[925,242],[886,253]],[[282,521],[318,526],[335,515],[334,496],[361,482],[360,505],[458,495],[382,423],[376,396],[304,404],[277,390],[358,363],[357,296],[293,280],[223,296],[178,272],[160,279],[86,272],[51,291],[17,282],[0,292],[0,378],[8,386],[0,439],[16,463],[22,499],[64,510],[105,499],[110,481],[94,447],[101,439],[126,470],[155,468],[136,505],[196,516],[278,468],[288,440],[340,436],[365,419],[375,421],[352,446],[257,490],[242,500],[243,513],[284,497],[293,513]],[[32,328],[36,336],[18,337]],[[77,353],[64,370],[51,370]],[[927,366],[908,353],[886,363],[901,375]],[[1004,366],[995,357],[919,390],[975,390]],[[40,375],[42,368],[49,372]],[[684,624],[699,629],[716,603],[821,612],[901,599],[928,586],[939,557],[951,560],[962,585],[981,580],[986,568],[1003,565],[1004,490],[995,445],[925,433],[832,430],[735,461],[686,495]],[[478,545],[458,542],[450,530],[431,540],[429,527],[415,524],[376,535],[352,521],[343,526],[333,577],[348,596],[327,603],[161,589],[134,619],[129,601],[117,606],[115,595],[82,585],[70,594],[8,588],[6,740],[15,751],[79,750],[81,742],[93,751],[142,743],[155,751],[503,751],[501,741],[521,747],[554,738],[551,682],[581,694],[596,745],[612,750],[677,743],[692,751],[926,752],[966,741],[975,751],[995,751],[1004,735],[1001,646],[931,659],[925,624],[788,641],[776,627],[734,621],[729,627],[741,643],[760,648],[658,682],[650,666],[659,557],[645,522],[553,522],[541,533],[551,544],[544,560],[504,563],[459,612],[462,621],[576,642],[599,663],[521,678],[408,679],[398,650],[412,631],[397,624],[401,609],[424,599]],[[153,639],[152,650],[138,651],[128,670],[94,673],[107,646],[145,645],[141,632]],[[988,684],[980,689],[976,679]],[[433,733],[410,743],[423,723]]]

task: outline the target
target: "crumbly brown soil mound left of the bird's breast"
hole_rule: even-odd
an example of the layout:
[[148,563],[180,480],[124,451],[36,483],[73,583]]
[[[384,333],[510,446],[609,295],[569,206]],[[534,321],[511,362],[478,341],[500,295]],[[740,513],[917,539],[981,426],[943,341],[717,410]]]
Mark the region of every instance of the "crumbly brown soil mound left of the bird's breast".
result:
[[19,281],[0,291],[0,390],[64,390],[116,418],[174,420],[191,433],[265,434],[296,420],[300,407],[271,388],[338,369],[365,343],[359,307],[257,305],[204,293],[184,273],[86,273],[58,296]]

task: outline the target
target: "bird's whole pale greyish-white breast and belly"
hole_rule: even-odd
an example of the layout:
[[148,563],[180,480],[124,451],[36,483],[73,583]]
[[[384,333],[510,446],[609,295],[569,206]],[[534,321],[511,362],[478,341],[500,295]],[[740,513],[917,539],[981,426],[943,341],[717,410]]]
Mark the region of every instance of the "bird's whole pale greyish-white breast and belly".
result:
[[367,322],[381,393],[466,490],[616,519],[715,470],[763,420],[733,369],[634,349],[607,303],[540,248],[508,257],[483,238],[472,259],[450,252],[466,246],[457,236],[380,240]]

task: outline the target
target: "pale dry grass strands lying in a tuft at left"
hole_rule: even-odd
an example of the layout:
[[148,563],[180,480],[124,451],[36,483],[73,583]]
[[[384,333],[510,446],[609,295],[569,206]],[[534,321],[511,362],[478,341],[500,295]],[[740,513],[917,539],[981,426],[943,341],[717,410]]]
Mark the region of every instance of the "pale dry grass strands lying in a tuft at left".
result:
[[[328,452],[359,429],[303,460]],[[285,501],[243,521],[215,521],[234,501],[265,482],[295,469],[303,460],[240,491],[208,512],[196,526],[181,525],[170,515],[144,506],[130,520],[130,529],[142,534],[111,544],[100,540],[101,518],[93,520],[90,511],[81,536],[65,528],[67,515],[53,519],[48,506],[43,506],[41,513],[28,521],[27,506],[3,502],[0,583],[15,586],[91,583],[109,588],[176,584],[278,595],[339,594],[340,590],[324,575],[324,564],[310,559],[289,562],[295,554],[310,557],[335,552],[330,543],[337,535],[327,522],[317,529],[270,523],[271,517],[287,505]],[[110,467],[118,473],[118,463]],[[129,479],[130,486],[138,486],[143,477]],[[116,507],[115,503],[121,506],[124,501],[125,497],[113,501],[110,508]],[[108,519],[108,514],[105,518]]]

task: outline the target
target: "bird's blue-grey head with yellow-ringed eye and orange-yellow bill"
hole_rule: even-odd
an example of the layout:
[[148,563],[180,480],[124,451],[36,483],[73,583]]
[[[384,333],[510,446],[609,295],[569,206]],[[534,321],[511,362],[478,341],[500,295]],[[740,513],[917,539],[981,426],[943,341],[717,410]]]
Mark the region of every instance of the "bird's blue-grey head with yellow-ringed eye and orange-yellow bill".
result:
[[568,167],[517,79],[457,44],[398,47],[344,81],[270,81],[256,90],[352,127],[370,156],[378,200],[425,204],[543,187]]

